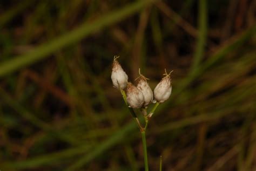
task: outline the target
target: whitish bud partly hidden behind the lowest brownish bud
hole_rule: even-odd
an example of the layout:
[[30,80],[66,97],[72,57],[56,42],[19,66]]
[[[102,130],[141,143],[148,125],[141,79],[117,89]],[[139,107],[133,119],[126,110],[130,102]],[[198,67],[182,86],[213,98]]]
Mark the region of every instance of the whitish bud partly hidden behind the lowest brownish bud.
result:
[[[140,74],[140,71],[139,71]],[[153,100],[153,92],[149,86],[149,84],[147,83],[147,78],[144,77],[142,74],[140,74],[138,79],[138,84],[137,84],[137,88],[142,91],[143,95],[144,95],[144,104],[143,106],[146,107],[147,105],[149,105],[152,100]]]

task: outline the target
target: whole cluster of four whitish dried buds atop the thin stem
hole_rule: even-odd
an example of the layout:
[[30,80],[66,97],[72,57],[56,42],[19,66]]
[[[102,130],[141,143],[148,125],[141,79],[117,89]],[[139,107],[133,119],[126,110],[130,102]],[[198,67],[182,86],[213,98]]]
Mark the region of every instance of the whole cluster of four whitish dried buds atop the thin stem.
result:
[[169,99],[172,92],[170,73],[165,70],[164,78],[154,88],[154,92],[151,90],[147,78],[140,73],[137,86],[128,82],[128,76],[124,72],[122,66],[117,61],[117,56],[114,56],[111,79],[113,86],[120,91],[126,90],[127,104],[132,108],[146,108],[151,102],[162,103]]

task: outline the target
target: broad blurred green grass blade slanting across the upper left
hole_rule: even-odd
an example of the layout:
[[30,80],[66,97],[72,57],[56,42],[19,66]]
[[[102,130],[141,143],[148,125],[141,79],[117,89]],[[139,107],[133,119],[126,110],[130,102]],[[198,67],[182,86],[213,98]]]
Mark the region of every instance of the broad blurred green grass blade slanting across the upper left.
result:
[[17,71],[22,67],[36,63],[37,61],[42,60],[46,57],[49,57],[49,54],[59,49],[62,49],[65,46],[76,43],[95,31],[101,30],[106,26],[117,23],[120,20],[133,15],[140,9],[144,8],[145,5],[152,2],[153,1],[137,1],[135,3],[129,4],[122,9],[118,9],[107,15],[104,15],[103,17],[95,20],[94,22],[85,22],[77,29],[58,37],[50,41],[49,43],[39,45],[38,47],[29,51],[26,54],[5,61],[0,64],[0,77],[3,77],[10,72]]

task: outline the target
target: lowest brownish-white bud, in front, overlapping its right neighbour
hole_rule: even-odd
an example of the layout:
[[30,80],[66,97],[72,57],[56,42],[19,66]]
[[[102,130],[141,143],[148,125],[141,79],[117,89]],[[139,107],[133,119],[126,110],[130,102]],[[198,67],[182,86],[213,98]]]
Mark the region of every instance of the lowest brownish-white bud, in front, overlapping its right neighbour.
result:
[[142,107],[144,104],[144,95],[136,86],[132,83],[127,83],[126,87],[127,104],[132,108]]

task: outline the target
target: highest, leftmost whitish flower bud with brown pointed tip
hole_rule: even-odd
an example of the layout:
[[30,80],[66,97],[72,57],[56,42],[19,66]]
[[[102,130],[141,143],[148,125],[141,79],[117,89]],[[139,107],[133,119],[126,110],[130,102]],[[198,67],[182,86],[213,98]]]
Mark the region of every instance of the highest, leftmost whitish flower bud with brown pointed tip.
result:
[[117,61],[117,58],[117,56],[114,56],[111,79],[115,88],[124,90],[128,81],[128,76]]

